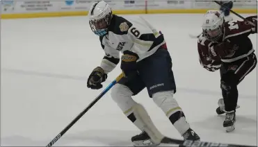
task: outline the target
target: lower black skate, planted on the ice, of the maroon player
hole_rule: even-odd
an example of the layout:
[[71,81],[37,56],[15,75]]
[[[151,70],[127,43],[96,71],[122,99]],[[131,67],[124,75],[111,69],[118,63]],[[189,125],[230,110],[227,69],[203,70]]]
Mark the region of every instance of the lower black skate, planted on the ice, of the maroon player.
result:
[[223,122],[223,127],[226,128],[226,132],[231,132],[235,130],[234,123],[236,122],[236,112],[226,112],[226,118]]

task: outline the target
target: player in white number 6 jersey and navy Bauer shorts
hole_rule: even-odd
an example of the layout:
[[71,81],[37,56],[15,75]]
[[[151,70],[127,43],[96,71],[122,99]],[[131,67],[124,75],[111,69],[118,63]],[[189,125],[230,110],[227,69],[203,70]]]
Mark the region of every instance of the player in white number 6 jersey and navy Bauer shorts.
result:
[[184,139],[200,140],[173,97],[176,85],[163,34],[141,17],[129,20],[113,15],[111,7],[104,1],[92,4],[88,18],[91,30],[99,35],[105,55],[100,66],[93,69],[87,85],[91,89],[102,88],[108,73],[120,62],[120,52],[123,53],[120,68],[125,77],[113,87],[111,96],[127,118],[142,131],[131,138],[134,146],[160,143],[160,139],[156,141],[159,137],[153,135],[154,126],[153,123],[150,126],[151,120],[145,108],[132,98],[145,87],[150,98],[168,116]]

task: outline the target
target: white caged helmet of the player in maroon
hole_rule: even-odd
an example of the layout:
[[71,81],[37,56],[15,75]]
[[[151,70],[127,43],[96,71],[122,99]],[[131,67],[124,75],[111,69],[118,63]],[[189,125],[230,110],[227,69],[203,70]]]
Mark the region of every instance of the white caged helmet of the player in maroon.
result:
[[224,17],[218,10],[208,10],[202,21],[203,35],[208,40],[216,41],[223,35]]

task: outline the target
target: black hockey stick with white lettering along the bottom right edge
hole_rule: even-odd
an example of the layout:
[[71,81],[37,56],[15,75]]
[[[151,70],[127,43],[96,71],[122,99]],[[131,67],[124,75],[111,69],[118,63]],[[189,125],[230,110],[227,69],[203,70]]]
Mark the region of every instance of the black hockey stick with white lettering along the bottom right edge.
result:
[[208,141],[191,141],[191,140],[179,140],[179,139],[171,139],[169,137],[164,137],[161,140],[161,144],[179,144],[179,147],[199,147],[199,146],[213,146],[213,147],[255,147],[255,146],[248,146],[248,145],[238,145],[238,144],[221,144],[221,143],[216,143],[216,142],[208,142]]

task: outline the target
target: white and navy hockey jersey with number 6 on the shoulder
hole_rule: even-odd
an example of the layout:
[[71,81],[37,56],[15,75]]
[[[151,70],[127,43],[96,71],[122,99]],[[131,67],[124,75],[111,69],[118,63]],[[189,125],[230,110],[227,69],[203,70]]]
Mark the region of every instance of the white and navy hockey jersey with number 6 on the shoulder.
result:
[[108,26],[108,34],[99,37],[105,56],[100,67],[106,74],[112,71],[120,61],[120,52],[132,51],[139,56],[137,60],[143,60],[152,55],[165,44],[165,40],[159,31],[156,31],[142,17],[124,19],[113,15]]

